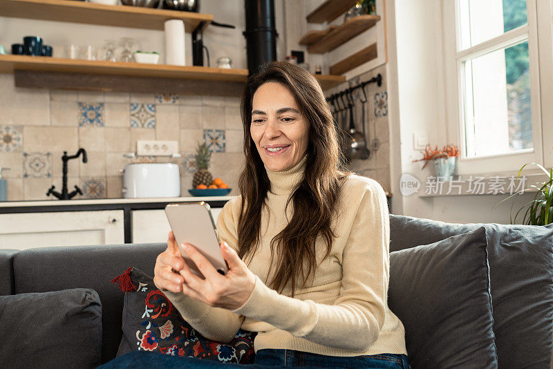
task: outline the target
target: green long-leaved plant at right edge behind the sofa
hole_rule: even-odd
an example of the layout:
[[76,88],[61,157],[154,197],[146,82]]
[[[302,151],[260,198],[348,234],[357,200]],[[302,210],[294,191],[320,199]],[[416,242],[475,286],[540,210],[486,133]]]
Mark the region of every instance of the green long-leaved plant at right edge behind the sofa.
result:
[[524,191],[530,190],[530,191],[536,191],[536,194],[534,195],[534,198],[530,200],[529,202],[525,203],[521,207],[521,209],[518,209],[516,211],[516,214],[513,218],[513,206],[515,199],[513,199],[513,203],[511,205],[511,211],[510,211],[510,220],[511,224],[516,223],[516,218],[522,214],[522,211],[524,211],[523,216],[523,224],[524,225],[548,225],[553,223],[553,169],[550,171],[547,171],[543,166],[541,166],[538,163],[531,162],[526,163],[523,165],[520,171],[518,171],[518,176],[516,178],[521,177],[521,173],[529,164],[534,164],[536,167],[541,169],[545,173],[545,180],[536,182],[532,185],[529,185],[525,189],[521,189],[521,191],[518,191],[516,193],[513,193],[508,198],[505,198],[504,200],[501,200],[500,202],[503,202],[505,200],[509,200],[509,198],[512,198],[513,196],[518,195],[519,193],[524,193]]

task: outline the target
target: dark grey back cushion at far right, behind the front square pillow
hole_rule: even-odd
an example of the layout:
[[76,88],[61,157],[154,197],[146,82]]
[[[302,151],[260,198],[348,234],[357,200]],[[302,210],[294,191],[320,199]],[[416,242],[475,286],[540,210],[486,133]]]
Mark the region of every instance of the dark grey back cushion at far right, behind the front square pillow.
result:
[[484,226],[500,368],[549,368],[553,319],[553,225],[452,224],[390,216],[392,251]]

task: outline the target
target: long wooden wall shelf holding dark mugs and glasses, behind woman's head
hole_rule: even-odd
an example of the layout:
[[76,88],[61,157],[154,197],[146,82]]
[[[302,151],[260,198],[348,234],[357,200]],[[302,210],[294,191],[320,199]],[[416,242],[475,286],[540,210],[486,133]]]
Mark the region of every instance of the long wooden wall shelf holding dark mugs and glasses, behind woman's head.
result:
[[[0,73],[13,73],[15,86],[85,91],[166,92],[184,95],[240,95],[247,69],[169,66],[28,55],[0,55]],[[343,76],[315,75],[326,90]]]

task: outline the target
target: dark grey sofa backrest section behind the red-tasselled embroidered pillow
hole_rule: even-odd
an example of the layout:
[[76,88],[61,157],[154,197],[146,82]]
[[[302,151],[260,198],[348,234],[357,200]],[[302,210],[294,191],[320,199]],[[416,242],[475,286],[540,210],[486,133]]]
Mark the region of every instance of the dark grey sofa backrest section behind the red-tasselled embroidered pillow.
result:
[[167,244],[156,243],[26,249],[13,255],[14,293],[95,290],[102,301],[102,363],[106,363],[117,354],[122,337],[124,292],[111,280],[127,267],[153,276],[156,257],[166,248]]

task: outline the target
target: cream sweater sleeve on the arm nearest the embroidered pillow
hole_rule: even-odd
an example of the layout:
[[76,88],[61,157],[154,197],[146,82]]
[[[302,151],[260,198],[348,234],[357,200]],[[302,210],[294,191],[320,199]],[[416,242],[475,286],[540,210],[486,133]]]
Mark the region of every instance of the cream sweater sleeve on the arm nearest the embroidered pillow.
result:
[[[217,233],[220,241],[226,241],[236,248],[234,220],[230,201],[225,204],[217,221]],[[232,341],[240,329],[243,316],[223,308],[214,308],[201,301],[191,299],[182,292],[163,291],[167,299],[176,307],[182,319],[205,338],[227,343]]]

